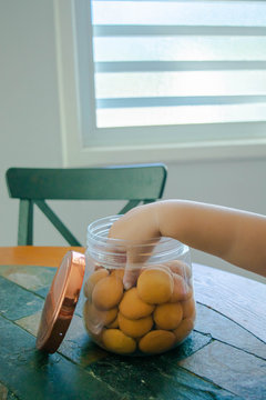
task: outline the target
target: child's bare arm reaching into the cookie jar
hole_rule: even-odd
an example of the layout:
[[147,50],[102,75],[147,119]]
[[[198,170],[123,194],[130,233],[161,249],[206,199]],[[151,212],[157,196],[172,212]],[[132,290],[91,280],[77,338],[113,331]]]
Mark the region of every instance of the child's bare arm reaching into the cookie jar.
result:
[[166,200],[137,207],[110,237],[139,243],[171,237],[266,277],[266,217],[193,201]]

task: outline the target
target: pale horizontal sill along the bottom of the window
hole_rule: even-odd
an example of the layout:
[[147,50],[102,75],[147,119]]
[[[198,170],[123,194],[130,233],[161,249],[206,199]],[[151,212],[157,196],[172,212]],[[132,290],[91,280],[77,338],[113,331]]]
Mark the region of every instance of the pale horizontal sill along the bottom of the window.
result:
[[64,167],[89,167],[140,162],[193,162],[266,157],[266,139],[206,141],[201,143],[130,146],[130,147],[71,147],[64,151]]

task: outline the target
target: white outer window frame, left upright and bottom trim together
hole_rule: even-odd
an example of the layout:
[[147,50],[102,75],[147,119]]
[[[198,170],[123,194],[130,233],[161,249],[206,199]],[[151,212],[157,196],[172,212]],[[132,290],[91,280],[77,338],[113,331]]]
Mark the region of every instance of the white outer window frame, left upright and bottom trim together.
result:
[[[214,124],[187,124],[182,126],[185,137],[190,141],[167,141],[167,132],[171,127],[165,127],[165,142],[156,140],[144,144],[99,146],[96,141],[90,147],[82,144],[81,91],[79,88],[79,68],[76,58],[76,38],[74,21],[74,2],[79,1],[86,7],[86,0],[53,0],[54,26],[55,26],[55,51],[58,66],[59,104],[60,104],[60,129],[62,137],[62,152],[64,167],[103,166],[110,163],[134,163],[134,162],[178,162],[200,160],[222,160],[243,158],[264,158],[266,156],[266,122],[243,123],[214,123]],[[93,63],[91,62],[93,71]],[[84,82],[83,84],[93,84]],[[92,92],[92,90],[88,91]],[[84,91],[82,93],[84,96]],[[90,104],[90,116],[93,119],[94,98],[89,96],[85,101]],[[140,128],[141,130],[142,128]],[[156,127],[145,127],[150,133]],[[205,133],[200,141],[193,138],[198,131]],[[216,138],[212,140],[212,132]],[[249,138],[249,132],[255,137]],[[131,128],[124,129],[125,134],[131,133]],[[234,139],[231,139],[234,132]],[[91,132],[96,134],[96,129]],[[112,134],[112,133],[111,133]],[[115,129],[113,130],[115,134]]]

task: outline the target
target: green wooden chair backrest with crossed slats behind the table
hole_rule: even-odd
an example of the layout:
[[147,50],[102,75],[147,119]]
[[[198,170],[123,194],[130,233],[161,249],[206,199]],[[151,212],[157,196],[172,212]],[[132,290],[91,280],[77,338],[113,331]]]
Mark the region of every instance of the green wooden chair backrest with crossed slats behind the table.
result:
[[45,200],[126,200],[122,214],[163,196],[163,163],[103,168],[10,168],[9,196],[20,199],[18,244],[33,244],[33,206],[45,214],[70,246],[81,246]]

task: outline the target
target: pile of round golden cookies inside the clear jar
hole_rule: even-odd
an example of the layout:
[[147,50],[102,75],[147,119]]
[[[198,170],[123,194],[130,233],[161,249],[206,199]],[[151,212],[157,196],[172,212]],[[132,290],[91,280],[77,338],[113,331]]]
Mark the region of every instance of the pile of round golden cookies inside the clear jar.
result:
[[134,271],[95,266],[83,290],[88,333],[109,351],[162,353],[184,341],[193,330],[196,312],[192,270],[183,261]]

